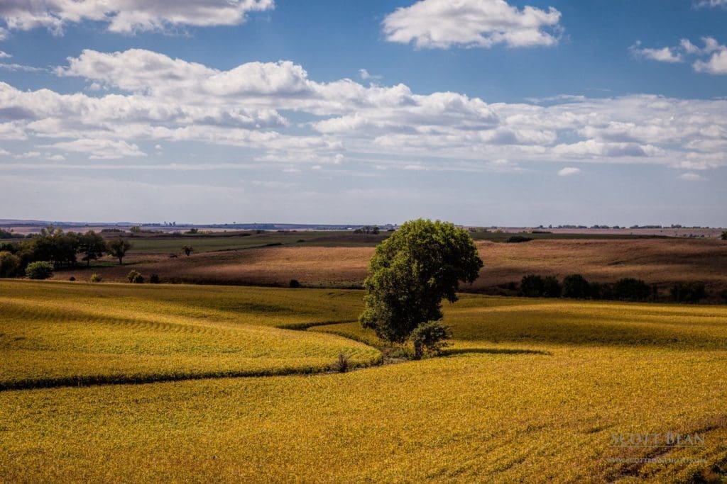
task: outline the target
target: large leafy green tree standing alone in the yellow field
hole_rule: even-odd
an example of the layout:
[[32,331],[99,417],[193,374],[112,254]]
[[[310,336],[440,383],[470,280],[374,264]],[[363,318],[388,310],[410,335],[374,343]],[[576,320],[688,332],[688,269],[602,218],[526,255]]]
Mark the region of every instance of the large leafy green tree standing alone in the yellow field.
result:
[[[442,327],[442,299],[454,303],[459,282],[474,282],[480,268],[477,247],[465,229],[421,218],[406,222],[376,247],[364,281],[366,308],[359,321],[392,343],[404,343],[414,329],[430,321]],[[432,324],[426,333],[426,338],[414,341],[417,357],[422,345],[436,348],[433,339],[447,335]]]

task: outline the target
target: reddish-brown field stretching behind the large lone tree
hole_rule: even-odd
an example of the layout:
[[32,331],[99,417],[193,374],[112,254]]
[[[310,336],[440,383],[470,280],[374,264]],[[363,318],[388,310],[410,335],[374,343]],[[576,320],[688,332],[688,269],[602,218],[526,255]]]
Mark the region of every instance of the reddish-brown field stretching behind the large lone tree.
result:
[[[580,273],[596,282],[638,277],[662,290],[673,282],[701,281],[709,292],[727,287],[727,243],[714,239],[534,240],[521,244],[477,242],[485,266],[465,291],[498,293],[526,274]],[[55,279],[124,281],[132,268],[164,282],[286,285],[291,279],[310,287],[357,287],[366,277],[373,247],[265,247],[193,253],[131,253],[124,266],[92,266],[60,271]]]

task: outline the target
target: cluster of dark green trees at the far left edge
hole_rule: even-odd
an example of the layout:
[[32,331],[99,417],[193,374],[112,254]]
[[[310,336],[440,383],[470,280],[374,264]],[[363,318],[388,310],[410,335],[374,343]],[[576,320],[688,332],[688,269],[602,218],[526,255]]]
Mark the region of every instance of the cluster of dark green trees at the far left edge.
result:
[[54,269],[76,266],[79,255],[87,266],[105,254],[118,258],[121,264],[131,247],[121,237],[107,242],[92,230],[81,234],[49,226],[29,239],[0,243],[0,277],[25,274],[34,262],[47,262]]

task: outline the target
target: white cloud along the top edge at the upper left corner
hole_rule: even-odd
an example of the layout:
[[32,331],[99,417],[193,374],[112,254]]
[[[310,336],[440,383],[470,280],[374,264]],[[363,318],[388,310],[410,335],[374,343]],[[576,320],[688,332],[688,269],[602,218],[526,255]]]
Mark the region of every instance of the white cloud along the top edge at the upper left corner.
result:
[[0,19],[10,30],[43,27],[62,35],[69,23],[105,22],[111,32],[177,26],[240,25],[249,12],[273,9],[273,0],[5,0]]

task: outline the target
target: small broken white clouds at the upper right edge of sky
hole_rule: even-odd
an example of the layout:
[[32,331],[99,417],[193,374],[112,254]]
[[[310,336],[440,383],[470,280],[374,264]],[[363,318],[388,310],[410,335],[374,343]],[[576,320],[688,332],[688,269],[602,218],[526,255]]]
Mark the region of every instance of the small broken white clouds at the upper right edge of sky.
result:
[[692,44],[688,38],[683,38],[675,47],[662,47],[661,49],[642,49],[637,41],[629,47],[629,52],[635,58],[656,60],[659,62],[684,62],[685,57],[697,58],[692,68],[698,73],[727,74],[727,46],[720,45],[712,37],[702,37],[704,47],[701,49]]

